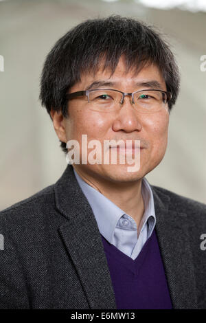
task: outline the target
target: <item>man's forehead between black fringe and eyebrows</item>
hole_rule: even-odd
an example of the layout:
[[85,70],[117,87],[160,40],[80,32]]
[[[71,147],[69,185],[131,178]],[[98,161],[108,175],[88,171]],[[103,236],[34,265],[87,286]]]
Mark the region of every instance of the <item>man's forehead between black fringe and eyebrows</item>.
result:
[[[70,93],[73,91],[85,90],[93,82],[111,82],[116,89],[130,88],[130,91],[135,90],[138,83],[157,81],[161,85],[161,89],[166,91],[165,80],[161,74],[161,71],[152,63],[146,63],[144,67],[127,69],[126,63],[123,58],[119,59],[117,67],[113,74],[111,69],[104,69],[104,64],[100,64],[97,71],[87,71],[81,74],[80,82],[76,83],[70,89]],[[155,88],[155,87],[154,87]]]

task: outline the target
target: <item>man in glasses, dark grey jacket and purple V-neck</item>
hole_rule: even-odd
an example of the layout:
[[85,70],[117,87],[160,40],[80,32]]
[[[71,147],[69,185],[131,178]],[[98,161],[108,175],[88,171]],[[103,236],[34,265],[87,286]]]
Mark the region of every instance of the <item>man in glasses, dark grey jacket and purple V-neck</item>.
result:
[[[145,178],[165,154],[178,93],[170,47],[144,23],[109,16],[58,40],[40,98],[80,162],[73,151],[54,185],[1,212],[1,309],[206,308],[206,205]],[[115,164],[100,160],[115,150]],[[120,159],[134,155],[129,171]]]

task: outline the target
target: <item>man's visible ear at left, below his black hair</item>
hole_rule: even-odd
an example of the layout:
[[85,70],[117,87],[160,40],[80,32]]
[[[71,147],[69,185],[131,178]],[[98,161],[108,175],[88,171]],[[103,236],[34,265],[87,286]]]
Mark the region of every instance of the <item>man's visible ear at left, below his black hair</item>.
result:
[[61,142],[67,142],[67,136],[65,131],[65,118],[62,115],[62,111],[55,111],[51,109],[50,115],[54,125],[54,130]]

